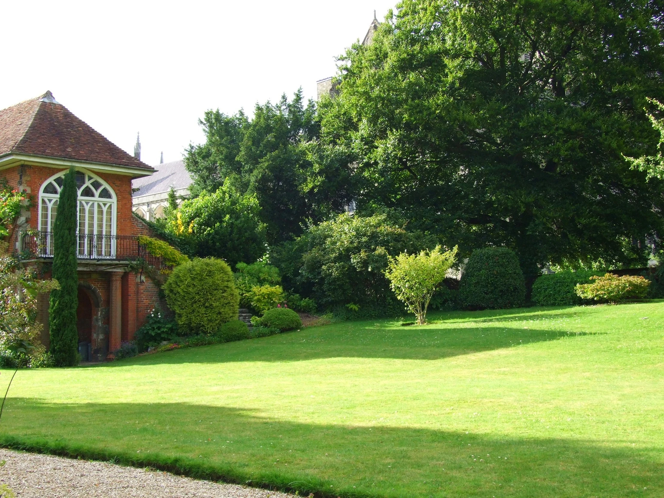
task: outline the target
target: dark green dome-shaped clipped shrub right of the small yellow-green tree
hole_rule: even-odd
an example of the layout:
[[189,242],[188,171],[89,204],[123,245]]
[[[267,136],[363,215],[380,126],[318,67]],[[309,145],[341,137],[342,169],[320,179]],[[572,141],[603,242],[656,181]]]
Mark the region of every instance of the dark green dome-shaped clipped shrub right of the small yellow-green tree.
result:
[[503,247],[473,251],[459,282],[459,301],[464,308],[519,307],[525,297],[525,280],[513,251]]

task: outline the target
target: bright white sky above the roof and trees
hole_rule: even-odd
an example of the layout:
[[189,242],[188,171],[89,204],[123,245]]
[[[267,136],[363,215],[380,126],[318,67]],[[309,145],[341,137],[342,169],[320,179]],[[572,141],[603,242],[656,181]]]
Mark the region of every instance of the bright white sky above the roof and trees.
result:
[[205,110],[251,113],[335,73],[396,0],[0,1],[0,109],[50,90],[148,164],[201,143]]

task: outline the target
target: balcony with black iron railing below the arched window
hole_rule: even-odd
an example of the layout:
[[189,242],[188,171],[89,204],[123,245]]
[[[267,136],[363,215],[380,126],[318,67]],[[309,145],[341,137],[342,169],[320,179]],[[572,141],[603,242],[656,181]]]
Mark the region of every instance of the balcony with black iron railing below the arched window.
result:
[[[157,270],[169,268],[158,256],[147,252],[145,244],[133,235],[76,234],[76,257],[92,261],[145,260]],[[53,232],[22,234],[21,252],[35,258],[53,257]]]

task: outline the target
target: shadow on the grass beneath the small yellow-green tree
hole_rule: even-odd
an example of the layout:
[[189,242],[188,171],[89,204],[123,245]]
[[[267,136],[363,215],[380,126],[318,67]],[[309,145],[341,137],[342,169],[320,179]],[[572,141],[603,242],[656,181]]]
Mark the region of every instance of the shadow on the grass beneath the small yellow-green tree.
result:
[[[160,365],[168,363],[227,363],[234,361],[307,361],[325,358],[389,358],[438,360],[540,343],[563,337],[596,335],[587,332],[484,327],[317,327],[261,339],[180,349],[146,355],[97,367]],[[96,368],[96,367],[90,367]]]

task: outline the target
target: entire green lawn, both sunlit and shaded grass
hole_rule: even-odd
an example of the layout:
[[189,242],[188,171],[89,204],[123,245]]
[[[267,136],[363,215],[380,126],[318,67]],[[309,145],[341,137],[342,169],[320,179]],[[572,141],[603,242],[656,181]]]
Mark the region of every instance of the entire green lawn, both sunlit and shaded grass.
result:
[[0,443],[301,494],[664,496],[663,302],[430,319],[19,371]]

